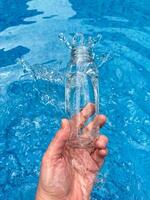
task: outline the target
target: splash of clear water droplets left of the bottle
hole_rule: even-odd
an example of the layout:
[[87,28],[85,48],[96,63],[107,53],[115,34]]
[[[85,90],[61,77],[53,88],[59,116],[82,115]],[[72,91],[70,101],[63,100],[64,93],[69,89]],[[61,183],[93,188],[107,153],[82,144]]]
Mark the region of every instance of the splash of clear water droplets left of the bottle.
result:
[[[30,65],[24,59],[18,59],[17,63],[21,65],[23,74],[20,76],[19,80],[32,80],[34,84],[34,90],[37,92],[41,99],[41,103],[44,105],[51,104],[50,99],[50,83],[63,84],[62,74],[58,71],[52,70],[52,68],[58,68],[61,63],[55,62],[54,66],[49,66],[45,64],[34,64]],[[46,81],[47,89],[44,91],[41,89],[41,81]]]

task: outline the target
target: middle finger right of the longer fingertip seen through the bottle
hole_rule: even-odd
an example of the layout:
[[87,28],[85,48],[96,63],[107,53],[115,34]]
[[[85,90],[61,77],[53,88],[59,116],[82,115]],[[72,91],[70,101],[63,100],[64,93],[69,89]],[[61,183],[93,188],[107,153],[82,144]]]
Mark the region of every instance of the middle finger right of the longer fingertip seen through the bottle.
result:
[[102,127],[106,122],[104,115],[97,115],[92,122],[90,122],[84,129],[84,136],[96,135],[99,132],[99,128]]

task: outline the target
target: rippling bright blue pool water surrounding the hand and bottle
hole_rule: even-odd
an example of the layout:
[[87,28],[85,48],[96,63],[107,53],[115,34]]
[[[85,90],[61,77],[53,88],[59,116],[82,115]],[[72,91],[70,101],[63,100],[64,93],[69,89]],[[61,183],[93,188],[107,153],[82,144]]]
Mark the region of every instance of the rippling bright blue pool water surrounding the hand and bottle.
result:
[[[102,34],[95,52],[114,52],[99,69],[109,156],[93,200],[150,199],[150,1],[0,1],[0,199],[34,199],[43,152],[64,114],[69,50],[76,32]],[[16,59],[34,66],[23,75]],[[46,73],[43,73],[43,68]]]

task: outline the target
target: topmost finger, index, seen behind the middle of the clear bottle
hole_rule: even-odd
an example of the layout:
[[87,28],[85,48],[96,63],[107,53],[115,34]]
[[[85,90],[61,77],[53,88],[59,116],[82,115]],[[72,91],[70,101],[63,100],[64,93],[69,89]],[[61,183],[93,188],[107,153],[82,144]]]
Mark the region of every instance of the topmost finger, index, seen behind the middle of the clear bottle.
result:
[[92,103],[88,103],[83,110],[73,116],[72,122],[76,126],[76,128],[82,128],[84,123],[95,113],[95,105]]

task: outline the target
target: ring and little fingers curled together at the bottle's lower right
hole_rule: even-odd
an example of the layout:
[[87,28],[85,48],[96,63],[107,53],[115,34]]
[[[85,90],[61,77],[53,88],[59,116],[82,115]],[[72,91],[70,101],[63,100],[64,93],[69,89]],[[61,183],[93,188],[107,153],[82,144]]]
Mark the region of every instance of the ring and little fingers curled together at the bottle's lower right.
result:
[[96,150],[92,153],[91,157],[97,163],[98,167],[102,166],[104,158],[108,154],[107,143],[108,138],[105,135],[100,135],[95,142]]

